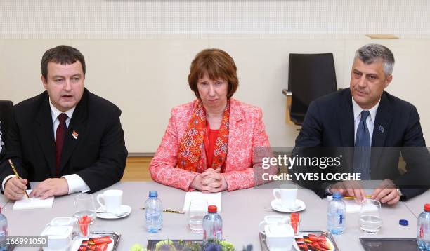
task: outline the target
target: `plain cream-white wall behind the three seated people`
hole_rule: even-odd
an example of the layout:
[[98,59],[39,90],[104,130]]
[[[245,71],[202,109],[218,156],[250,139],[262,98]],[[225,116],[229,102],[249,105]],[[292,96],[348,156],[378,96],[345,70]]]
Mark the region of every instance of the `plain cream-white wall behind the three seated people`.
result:
[[43,90],[41,55],[47,48],[70,44],[86,57],[86,86],[122,109],[130,152],[154,152],[167,126],[170,109],[192,100],[187,76],[191,60],[204,48],[221,48],[235,59],[240,87],[237,99],[263,108],[273,146],[292,146],[294,126],[285,124],[289,53],[334,53],[339,87],[347,87],[354,51],[365,43],[393,50],[396,66],[387,90],[415,104],[424,137],[430,137],[430,85],[426,62],[430,41],[398,39],[134,39],[0,40],[0,99],[20,102]]

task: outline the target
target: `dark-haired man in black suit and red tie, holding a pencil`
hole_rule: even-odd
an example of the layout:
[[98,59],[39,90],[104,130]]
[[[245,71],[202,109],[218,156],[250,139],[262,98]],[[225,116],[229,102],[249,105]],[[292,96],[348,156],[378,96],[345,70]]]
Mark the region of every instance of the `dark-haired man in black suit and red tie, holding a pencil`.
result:
[[[6,198],[22,198],[28,182],[40,182],[30,196],[47,198],[95,192],[122,178],[127,150],[121,111],[84,88],[84,79],[84,56],[76,48],[44,53],[46,91],[12,110],[0,169]],[[8,159],[22,179],[13,175]]]

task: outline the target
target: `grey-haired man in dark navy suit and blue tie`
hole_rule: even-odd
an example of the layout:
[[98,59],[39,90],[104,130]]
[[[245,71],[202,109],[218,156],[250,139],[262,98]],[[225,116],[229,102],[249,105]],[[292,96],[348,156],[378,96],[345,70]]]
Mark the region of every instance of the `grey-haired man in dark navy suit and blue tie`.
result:
[[[390,205],[426,191],[430,180],[417,109],[384,91],[393,79],[393,66],[389,48],[378,44],[359,48],[350,88],[312,102],[296,139],[296,148],[351,147],[351,151],[342,150],[343,168],[360,173],[362,180],[381,181],[371,196]],[[398,170],[400,153],[407,163],[403,174]],[[311,183],[301,182],[321,197],[337,191],[365,198],[357,181]]]

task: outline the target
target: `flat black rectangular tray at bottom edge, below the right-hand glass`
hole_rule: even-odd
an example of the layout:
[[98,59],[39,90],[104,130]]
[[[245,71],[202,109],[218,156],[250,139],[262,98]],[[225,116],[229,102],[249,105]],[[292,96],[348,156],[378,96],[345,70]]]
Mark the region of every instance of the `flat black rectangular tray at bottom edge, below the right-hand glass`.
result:
[[416,238],[360,238],[366,251],[418,250]]

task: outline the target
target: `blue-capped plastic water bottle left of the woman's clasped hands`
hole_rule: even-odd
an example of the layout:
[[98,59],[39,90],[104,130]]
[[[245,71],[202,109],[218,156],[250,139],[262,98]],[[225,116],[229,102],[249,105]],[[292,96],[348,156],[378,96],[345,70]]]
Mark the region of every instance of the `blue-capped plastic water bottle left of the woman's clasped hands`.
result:
[[145,226],[150,233],[157,233],[163,226],[163,203],[157,191],[150,191],[145,201]]

